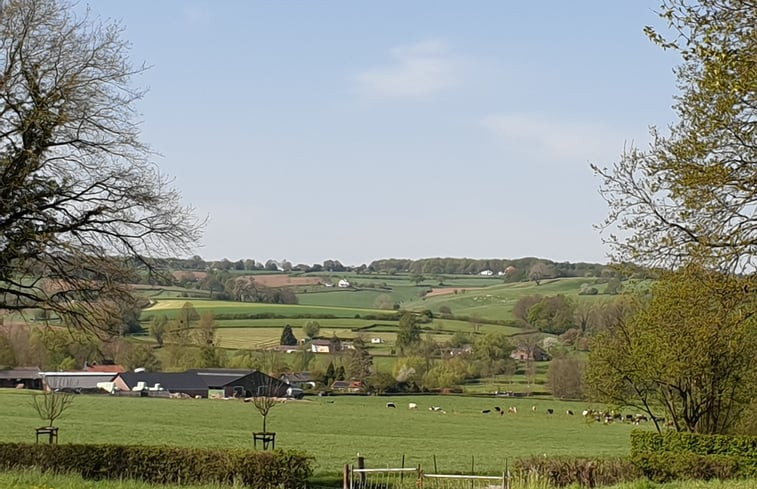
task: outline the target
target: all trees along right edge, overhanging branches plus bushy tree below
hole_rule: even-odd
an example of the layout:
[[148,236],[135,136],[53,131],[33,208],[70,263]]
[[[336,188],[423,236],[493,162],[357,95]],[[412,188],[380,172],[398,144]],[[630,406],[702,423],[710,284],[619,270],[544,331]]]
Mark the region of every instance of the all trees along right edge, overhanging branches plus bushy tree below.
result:
[[[664,270],[591,345],[593,397],[679,431],[757,434],[757,7],[664,0],[678,121],[647,150],[593,166],[617,261]],[[750,421],[751,420],[751,421]]]

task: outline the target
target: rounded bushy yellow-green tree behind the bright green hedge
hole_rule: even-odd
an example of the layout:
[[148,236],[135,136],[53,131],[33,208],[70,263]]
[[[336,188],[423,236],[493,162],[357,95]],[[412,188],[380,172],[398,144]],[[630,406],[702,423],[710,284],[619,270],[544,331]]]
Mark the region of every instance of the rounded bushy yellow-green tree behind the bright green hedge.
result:
[[728,432],[757,385],[753,280],[695,265],[665,274],[637,312],[592,342],[595,397],[634,406],[656,424],[665,417],[678,431]]

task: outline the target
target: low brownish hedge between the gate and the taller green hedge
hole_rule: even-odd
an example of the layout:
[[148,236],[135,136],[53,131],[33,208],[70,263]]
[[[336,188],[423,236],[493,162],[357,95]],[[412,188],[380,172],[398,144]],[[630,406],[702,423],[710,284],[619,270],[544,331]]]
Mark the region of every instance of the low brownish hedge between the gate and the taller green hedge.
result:
[[515,461],[519,477],[536,476],[556,487],[598,487],[636,480],[642,472],[626,458],[531,457]]

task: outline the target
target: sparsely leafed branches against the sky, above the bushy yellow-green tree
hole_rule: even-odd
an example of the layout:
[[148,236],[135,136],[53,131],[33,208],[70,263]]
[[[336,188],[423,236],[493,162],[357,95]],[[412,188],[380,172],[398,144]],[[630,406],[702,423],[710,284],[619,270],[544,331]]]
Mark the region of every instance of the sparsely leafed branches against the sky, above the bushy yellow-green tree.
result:
[[603,177],[604,226],[618,260],[677,265],[690,257],[724,270],[754,270],[757,257],[757,6],[742,0],[662,0],[673,37],[653,42],[681,55],[665,137],[647,151],[628,148]]

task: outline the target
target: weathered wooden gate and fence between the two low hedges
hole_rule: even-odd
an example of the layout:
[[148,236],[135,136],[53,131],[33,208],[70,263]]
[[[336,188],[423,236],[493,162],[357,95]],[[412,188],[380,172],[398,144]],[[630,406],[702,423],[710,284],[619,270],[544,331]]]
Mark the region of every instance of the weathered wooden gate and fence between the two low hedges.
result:
[[[373,477],[368,477],[369,475]],[[405,477],[407,475],[407,477]],[[510,472],[502,475],[427,474],[417,468],[386,467],[366,469],[344,466],[343,489],[481,488],[510,489]]]

